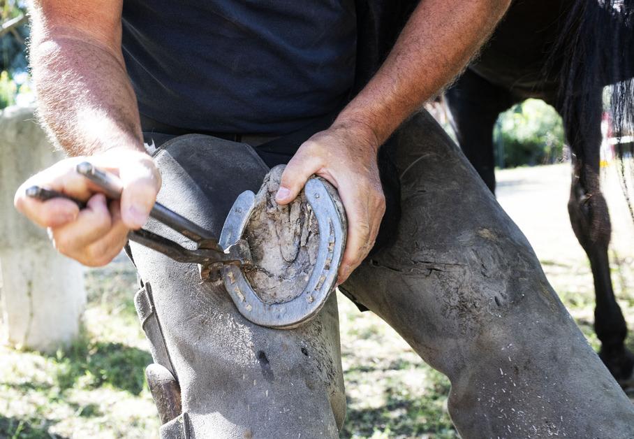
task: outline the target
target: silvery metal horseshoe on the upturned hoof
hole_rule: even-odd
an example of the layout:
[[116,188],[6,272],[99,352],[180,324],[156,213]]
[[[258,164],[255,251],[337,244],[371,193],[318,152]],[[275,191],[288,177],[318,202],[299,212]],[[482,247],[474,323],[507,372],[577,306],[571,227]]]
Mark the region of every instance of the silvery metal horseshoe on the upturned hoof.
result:
[[[292,298],[276,303],[260,299],[238,265],[221,266],[227,292],[239,312],[251,322],[277,329],[291,329],[307,322],[323,307],[337,282],[337,271],[346,243],[345,219],[337,209],[327,183],[311,178],[304,187],[305,195],[318,222],[317,257],[306,285]],[[239,245],[255,207],[251,191],[240,194],[226,219],[219,244],[225,251]],[[251,249],[253,250],[253,249]]]

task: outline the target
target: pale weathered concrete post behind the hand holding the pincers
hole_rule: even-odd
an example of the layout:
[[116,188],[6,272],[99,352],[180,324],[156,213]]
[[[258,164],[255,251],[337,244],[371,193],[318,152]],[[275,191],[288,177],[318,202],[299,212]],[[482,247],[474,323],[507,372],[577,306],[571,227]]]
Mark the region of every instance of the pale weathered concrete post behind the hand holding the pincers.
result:
[[13,208],[24,180],[64,156],[54,152],[32,108],[0,112],[0,307],[3,341],[54,352],[79,331],[83,268],[58,254],[46,231]]

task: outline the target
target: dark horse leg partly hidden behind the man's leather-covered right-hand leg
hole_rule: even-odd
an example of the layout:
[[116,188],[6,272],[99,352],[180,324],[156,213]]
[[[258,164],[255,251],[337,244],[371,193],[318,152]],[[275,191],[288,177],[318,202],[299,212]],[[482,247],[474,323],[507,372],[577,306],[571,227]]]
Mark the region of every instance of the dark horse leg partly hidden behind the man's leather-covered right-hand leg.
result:
[[510,93],[467,70],[445,92],[445,106],[464,155],[495,192],[493,126],[513,104]]

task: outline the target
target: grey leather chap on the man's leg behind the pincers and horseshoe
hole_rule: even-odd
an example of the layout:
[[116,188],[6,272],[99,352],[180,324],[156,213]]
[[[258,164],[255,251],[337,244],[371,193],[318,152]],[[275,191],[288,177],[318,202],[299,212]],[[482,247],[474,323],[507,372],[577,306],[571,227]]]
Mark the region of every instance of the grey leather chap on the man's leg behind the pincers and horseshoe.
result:
[[[267,171],[248,146],[205,136],[166,143],[156,161],[158,201],[216,236],[235,198],[257,191]],[[147,228],[186,245],[152,220]],[[334,295],[309,324],[267,329],[237,312],[219,279],[202,282],[197,266],[134,243],[131,250],[154,361],[182,392],[185,415],[163,427],[165,437],[188,429],[199,438],[337,437],[345,396]]]

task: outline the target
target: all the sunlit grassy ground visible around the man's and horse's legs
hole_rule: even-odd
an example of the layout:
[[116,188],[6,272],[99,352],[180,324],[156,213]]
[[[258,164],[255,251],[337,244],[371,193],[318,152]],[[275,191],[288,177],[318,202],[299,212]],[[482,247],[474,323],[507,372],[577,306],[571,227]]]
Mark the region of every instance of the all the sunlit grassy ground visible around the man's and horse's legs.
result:
[[[570,229],[569,166],[498,173],[498,199],[531,241],[550,282],[590,343],[594,291]],[[634,226],[616,168],[604,170],[612,213],[614,289],[634,329]],[[82,338],[53,355],[0,347],[0,438],[154,438],[158,419],[144,382],[151,361],[124,258],[86,273]],[[339,295],[348,415],[341,438],[456,438],[446,410],[448,380],[422,363],[389,326]],[[634,349],[634,337],[628,338]]]

